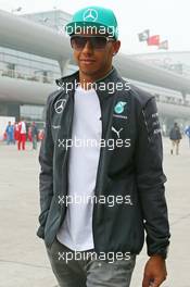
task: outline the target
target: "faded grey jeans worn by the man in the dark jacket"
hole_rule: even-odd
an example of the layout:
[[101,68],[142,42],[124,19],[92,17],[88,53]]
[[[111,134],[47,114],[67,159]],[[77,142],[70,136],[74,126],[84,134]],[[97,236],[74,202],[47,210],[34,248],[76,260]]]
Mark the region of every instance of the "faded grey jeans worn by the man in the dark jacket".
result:
[[[53,273],[60,287],[129,287],[136,255],[127,260],[107,260],[87,257],[89,251],[77,253],[54,240],[51,248],[47,248]],[[90,250],[91,253],[93,250]],[[65,258],[68,254],[68,258]]]

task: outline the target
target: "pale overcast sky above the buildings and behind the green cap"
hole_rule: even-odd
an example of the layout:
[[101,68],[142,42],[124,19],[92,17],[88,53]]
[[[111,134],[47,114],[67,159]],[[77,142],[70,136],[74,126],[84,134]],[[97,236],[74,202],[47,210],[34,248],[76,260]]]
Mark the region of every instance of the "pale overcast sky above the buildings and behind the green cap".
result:
[[[137,34],[149,28],[151,35],[168,39],[169,51],[189,51],[189,0],[0,0],[0,9],[11,12],[22,7],[22,13],[61,9],[68,13],[87,5],[103,5],[112,9],[118,21],[123,51],[141,53],[159,51],[139,42]],[[162,52],[162,51],[161,51]]]

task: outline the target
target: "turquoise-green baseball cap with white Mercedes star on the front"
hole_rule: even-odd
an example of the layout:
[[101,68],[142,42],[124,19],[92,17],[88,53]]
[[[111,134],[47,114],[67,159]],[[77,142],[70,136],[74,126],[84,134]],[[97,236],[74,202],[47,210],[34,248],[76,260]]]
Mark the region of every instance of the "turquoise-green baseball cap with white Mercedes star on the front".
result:
[[86,7],[77,11],[72,21],[65,26],[66,33],[80,34],[81,32],[97,32],[99,34],[118,38],[117,20],[111,9],[103,7]]

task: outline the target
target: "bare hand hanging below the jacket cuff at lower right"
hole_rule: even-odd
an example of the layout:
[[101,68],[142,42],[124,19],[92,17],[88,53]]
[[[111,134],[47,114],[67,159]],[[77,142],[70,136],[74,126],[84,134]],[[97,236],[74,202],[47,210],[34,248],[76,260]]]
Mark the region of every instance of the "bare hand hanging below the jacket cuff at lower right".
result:
[[159,287],[166,276],[165,260],[161,255],[153,255],[145,264],[142,287]]

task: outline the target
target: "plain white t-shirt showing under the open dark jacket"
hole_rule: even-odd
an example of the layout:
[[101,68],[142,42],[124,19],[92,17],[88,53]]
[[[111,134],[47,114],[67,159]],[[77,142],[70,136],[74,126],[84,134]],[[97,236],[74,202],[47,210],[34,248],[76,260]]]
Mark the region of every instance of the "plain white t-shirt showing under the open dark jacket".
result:
[[[102,134],[101,109],[94,89],[75,91],[73,118],[73,142],[68,163],[68,196],[74,203],[67,207],[65,220],[58,239],[72,250],[94,248],[92,236],[92,212],[97,170]],[[89,144],[91,139],[93,144]],[[94,145],[98,142],[97,145]]]

